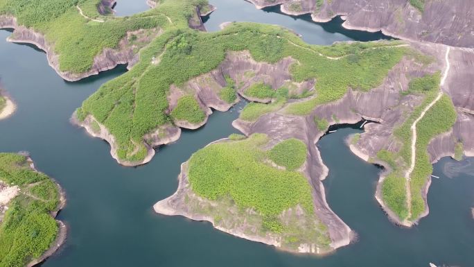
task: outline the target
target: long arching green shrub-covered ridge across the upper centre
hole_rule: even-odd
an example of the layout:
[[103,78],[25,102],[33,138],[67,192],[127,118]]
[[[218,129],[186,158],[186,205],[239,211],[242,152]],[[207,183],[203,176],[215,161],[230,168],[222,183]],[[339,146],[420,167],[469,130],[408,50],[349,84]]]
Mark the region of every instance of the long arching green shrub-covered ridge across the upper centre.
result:
[[[174,119],[201,119],[200,112],[191,106],[181,105],[179,112],[168,110],[170,86],[179,87],[216,69],[227,51],[249,51],[260,62],[275,63],[288,56],[298,60],[300,64],[291,67],[292,77],[295,82],[317,78],[317,97],[312,98],[317,102],[304,107],[292,105],[288,112],[306,114],[317,103],[341,98],[349,87],[368,90],[380,84],[407,51],[407,47],[399,44],[394,41],[314,46],[283,28],[252,23],[231,24],[216,33],[170,28],[141,51],[139,63],[128,73],[109,81],[89,97],[78,109],[78,119],[93,116],[114,135],[121,160],[140,161],[146,156],[143,136],[148,132],[173,124]],[[220,94],[223,101],[234,101],[234,87],[230,83]],[[258,89],[261,87],[264,92]],[[258,98],[277,97],[272,106],[252,105],[245,110],[243,117],[249,120],[285,103],[285,97],[278,96],[278,92],[273,94],[269,87],[251,87],[247,93]],[[195,105],[190,99],[185,103]]]

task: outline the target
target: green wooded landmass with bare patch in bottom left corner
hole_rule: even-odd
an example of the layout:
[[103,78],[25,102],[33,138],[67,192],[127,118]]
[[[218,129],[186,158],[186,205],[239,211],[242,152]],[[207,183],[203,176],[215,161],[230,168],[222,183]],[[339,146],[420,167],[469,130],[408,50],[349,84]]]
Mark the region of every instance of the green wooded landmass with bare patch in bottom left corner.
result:
[[[0,223],[4,266],[35,266],[53,255],[67,227],[55,220],[66,198],[60,185],[35,169],[27,153],[0,153]],[[31,234],[35,232],[34,239]]]

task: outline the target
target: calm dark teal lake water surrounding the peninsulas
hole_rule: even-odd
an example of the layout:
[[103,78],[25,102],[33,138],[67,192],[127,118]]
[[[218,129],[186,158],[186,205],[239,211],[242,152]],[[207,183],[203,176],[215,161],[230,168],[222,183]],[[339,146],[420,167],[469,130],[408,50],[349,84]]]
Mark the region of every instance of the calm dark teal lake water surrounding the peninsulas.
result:
[[[121,3],[136,1],[119,1],[117,8]],[[219,9],[207,21],[210,29],[221,21],[250,20],[240,17],[250,14],[260,22],[288,27],[283,21],[290,21],[298,33],[313,36],[315,44],[367,37],[367,33],[360,33],[358,39],[326,32],[319,24],[254,10],[244,1],[211,3]],[[230,19],[225,20],[225,12]],[[67,243],[42,266],[398,267],[428,266],[430,261],[474,266],[474,178],[470,172],[447,178],[443,167],[453,162],[446,158],[436,164],[434,174],[441,179],[433,181],[428,194],[430,216],[412,230],[401,229],[389,223],[374,200],[380,169],[362,162],[344,145],[347,135],[360,132],[352,128],[326,135],[318,143],[330,169],[324,182],[328,203],[358,232],[357,243],[333,255],[291,255],[214,230],[209,223],[154,214],[152,205],[176,190],[182,162],[209,142],[237,132],[231,121],[241,106],[215,112],[200,130],[184,131],[177,143],[160,148],[149,164],[125,168],[109,155],[105,141],[69,123],[87,96],[125,69],[67,83],[48,66],[44,53],[3,42],[8,35],[0,31],[0,77],[18,109],[0,121],[0,151],[30,151],[37,169],[58,180],[68,197],[59,215],[69,225]]]

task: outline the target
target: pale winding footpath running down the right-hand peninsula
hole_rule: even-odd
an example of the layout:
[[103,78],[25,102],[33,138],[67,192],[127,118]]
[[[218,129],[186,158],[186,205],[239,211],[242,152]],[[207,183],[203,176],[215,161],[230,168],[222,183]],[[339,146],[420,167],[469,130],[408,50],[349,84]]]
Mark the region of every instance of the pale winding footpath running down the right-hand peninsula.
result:
[[444,70],[443,77],[441,78],[441,83],[439,85],[439,93],[437,97],[431,101],[429,105],[425,107],[423,112],[421,112],[420,116],[413,122],[412,126],[410,129],[412,130],[412,159],[410,162],[410,169],[407,170],[407,173],[405,175],[405,178],[407,179],[406,181],[406,191],[407,191],[407,207],[408,207],[408,216],[407,218],[410,218],[412,216],[412,194],[411,194],[411,189],[410,189],[410,175],[412,175],[412,172],[415,167],[415,162],[416,162],[416,124],[423,119],[425,116],[426,112],[430,110],[430,108],[435,105],[439,99],[441,99],[441,96],[443,96],[443,90],[441,87],[444,85],[444,82],[446,80],[446,77],[448,77],[448,72],[450,69],[450,64],[449,64],[449,51],[450,51],[450,46],[448,46],[448,49],[446,49],[446,55],[445,55],[445,60],[446,60],[446,69]]

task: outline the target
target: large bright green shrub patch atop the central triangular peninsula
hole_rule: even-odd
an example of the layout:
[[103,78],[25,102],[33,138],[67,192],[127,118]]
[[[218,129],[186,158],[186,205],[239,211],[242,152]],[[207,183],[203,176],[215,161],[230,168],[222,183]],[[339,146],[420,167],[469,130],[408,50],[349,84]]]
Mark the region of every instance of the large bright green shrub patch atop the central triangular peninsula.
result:
[[276,216],[297,205],[313,214],[308,181],[301,173],[265,164],[267,153],[261,146],[266,143],[266,135],[256,134],[202,148],[189,160],[191,188],[209,200],[229,196],[238,207],[263,216]]

